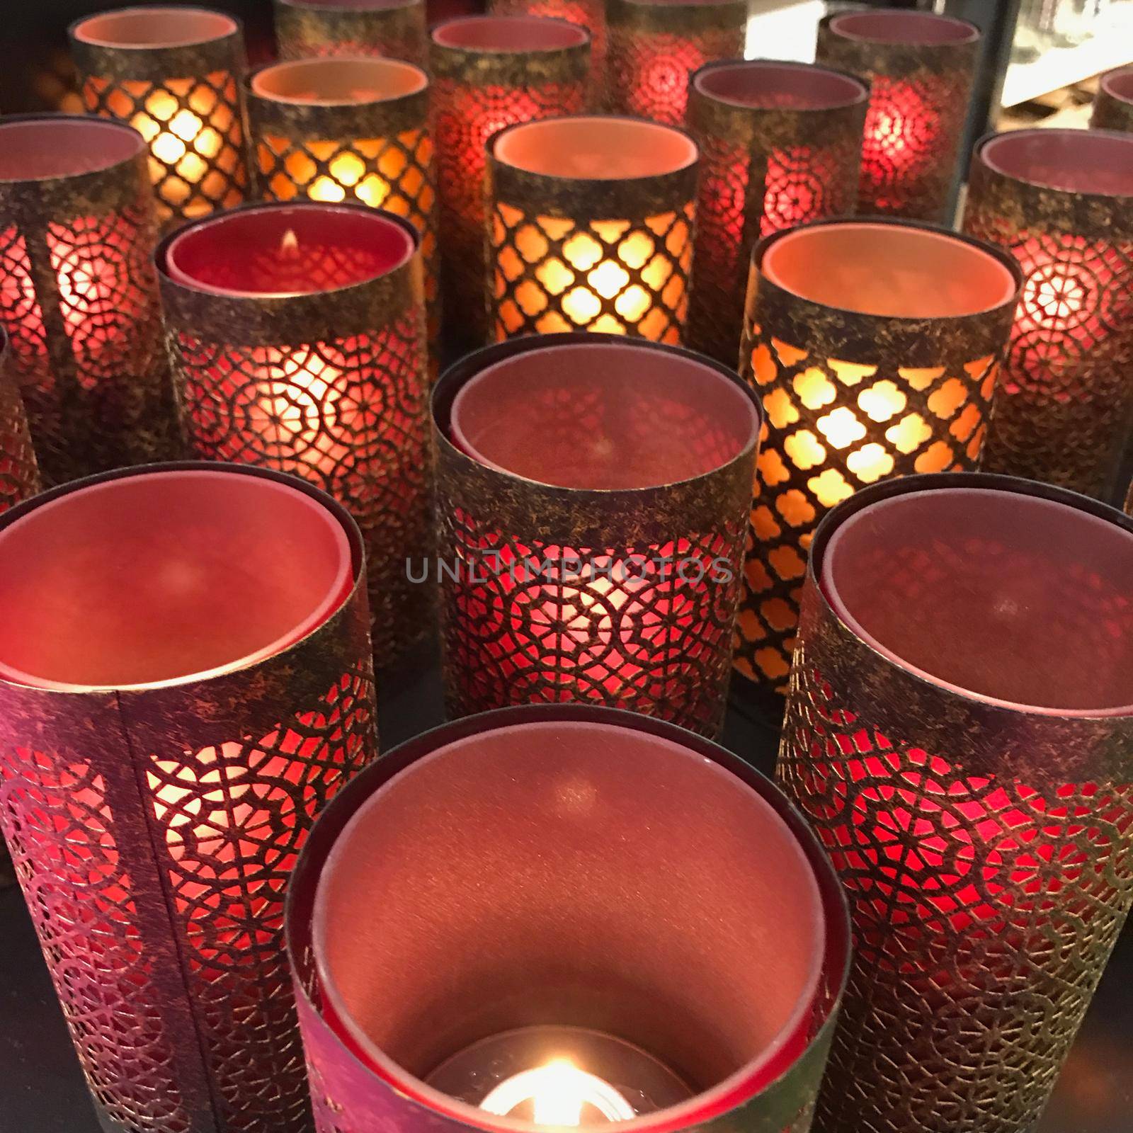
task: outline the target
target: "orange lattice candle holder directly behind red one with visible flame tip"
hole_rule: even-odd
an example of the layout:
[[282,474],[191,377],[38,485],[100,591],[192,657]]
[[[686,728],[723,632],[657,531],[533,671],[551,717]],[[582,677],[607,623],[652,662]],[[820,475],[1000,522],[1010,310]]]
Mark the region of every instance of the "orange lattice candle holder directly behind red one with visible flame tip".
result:
[[352,201],[420,233],[429,343],[440,334],[428,76],[395,59],[303,59],[261,68],[248,119],[267,201]]

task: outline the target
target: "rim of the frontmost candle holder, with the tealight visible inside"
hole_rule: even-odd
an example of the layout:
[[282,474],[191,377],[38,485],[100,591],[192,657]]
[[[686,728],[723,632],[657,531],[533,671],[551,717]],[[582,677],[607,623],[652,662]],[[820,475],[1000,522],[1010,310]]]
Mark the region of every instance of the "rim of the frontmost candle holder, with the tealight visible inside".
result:
[[[608,337],[616,338],[616,335]],[[382,785],[417,760],[458,740],[467,739],[487,730],[510,727],[525,723],[570,723],[574,721],[596,724],[604,723],[632,731],[647,732],[662,739],[668,739],[681,747],[704,756],[759,793],[763,800],[776,811],[787,826],[790,833],[798,840],[813,870],[815,880],[818,885],[826,932],[826,947],[824,951],[824,963],[820,965],[819,987],[823,986],[825,978],[828,995],[825,1000],[820,996],[816,997],[811,1005],[815,1015],[821,1015],[821,1022],[816,1022],[808,1037],[806,1050],[809,1050],[820,1040],[821,1034],[833,1023],[837,1004],[842,999],[850,978],[851,961],[849,903],[844,887],[834,872],[829,857],[823,849],[817,835],[794,802],[776,786],[770,777],[764,775],[722,744],[657,717],[642,716],[639,713],[628,712],[622,708],[610,708],[602,705],[513,705],[508,708],[495,708],[448,721],[398,744],[391,751],[384,753],[380,760],[364,767],[347,783],[316,819],[315,826],[312,828],[306,843],[299,852],[298,861],[291,874],[291,884],[288,886],[284,905],[284,936],[296,994],[304,997],[322,1019],[322,1011],[317,1005],[318,993],[314,991],[312,985],[305,979],[305,970],[310,970],[314,964],[310,949],[310,922],[314,912],[315,893],[318,888],[323,869],[334,849],[334,843],[342,835],[350,819],[366,803],[367,799]],[[324,1025],[326,1025],[325,1021]],[[375,1074],[375,1071],[370,1066],[363,1063],[358,1055],[342,1042],[342,1039],[333,1029],[332,1033],[334,1033],[335,1041],[342,1048],[344,1056],[351,1060],[357,1070],[367,1075]],[[729,1108],[734,1110],[753,1098],[769,1092],[806,1056],[806,1050],[799,1055],[791,1066],[784,1068],[778,1077],[764,1083],[759,1091],[751,1097],[747,1097],[742,1101],[733,1101]],[[705,1090],[695,1094],[689,1101],[682,1102],[681,1106],[671,1106],[657,1113],[662,1115],[671,1115],[674,1111],[680,1113],[684,1106],[692,1106],[696,1102],[702,1104],[702,1099],[709,1096],[712,1096],[709,1101],[723,1100],[727,1093],[727,1087],[735,1076],[742,1074],[743,1068],[741,1067],[741,1071],[736,1072],[736,1074],[730,1075],[724,1082],[717,1083],[712,1090]],[[419,1082],[415,1075],[408,1076],[414,1077],[415,1082]],[[393,1089],[393,1084],[387,1079],[383,1079],[383,1081],[386,1088]],[[419,1084],[425,1087],[424,1082]],[[429,1088],[425,1087],[425,1089],[428,1090]],[[417,1097],[411,1094],[401,1094],[401,1097],[423,1114],[433,1115],[436,1113],[434,1107]],[[445,1096],[445,1104],[446,1106],[451,1104],[453,1109],[461,1105],[454,1099],[448,1098],[448,1096]],[[707,1108],[707,1105],[705,1107]],[[477,1118],[479,1111],[476,1107],[469,1106],[467,1108],[474,1122],[467,1122],[463,1117],[451,1117],[449,1114],[445,1114],[445,1116],[450,1121],[460,1122],[465,1128],[488,1130],[489,1133],[491,1131],[499,1130],[509,1130],[512,1133],[536,1133],[536,1131],[545,1131],[553,1127],[509,1117],[493,1117],[491,1122],[484,1118],[477,1121],[475,1118]],[[705,1115],[704,1119],[708,1122],[714,1116],[715,1114]],[[667,1124],[663,1124],[658,1121],[656,1114],[637,1117],[630,1122],[619,1122],[619,1125],[624,1126],[631,1133],[639,1130],[651,1130],[654,1126],[661,1130],[674,1131],[685,1127],[682,1123],[672,1119]]]

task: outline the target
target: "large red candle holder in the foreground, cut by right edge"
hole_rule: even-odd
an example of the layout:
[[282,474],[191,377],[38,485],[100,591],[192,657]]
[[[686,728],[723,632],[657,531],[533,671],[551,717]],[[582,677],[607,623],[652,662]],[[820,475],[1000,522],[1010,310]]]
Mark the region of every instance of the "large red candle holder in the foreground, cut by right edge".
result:
[[819,527],[778,776],[854,926],[820,1128],[1037,1127],[1133,898],[1131,576],[1133,519],[1007,477]]

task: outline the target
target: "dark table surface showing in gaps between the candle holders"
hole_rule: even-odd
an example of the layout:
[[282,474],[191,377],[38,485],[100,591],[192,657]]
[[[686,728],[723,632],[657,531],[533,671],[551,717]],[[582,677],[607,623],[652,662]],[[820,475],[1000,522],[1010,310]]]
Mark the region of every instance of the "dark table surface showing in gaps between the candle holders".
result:
[[[420,674],[420,675],[416,675]],[[443,718],[432,664],[386,679],[383,750]],[[768,772],[776,732],[757,713],[729,714],[723,742]],[[1133,926],[1101,981],[1085,1025],[1034,1133],[1133,1131]],[[100,1133],[19,891],[0,892],[0,1133]],[[263,1130],[261,1133],[273,1133]]]

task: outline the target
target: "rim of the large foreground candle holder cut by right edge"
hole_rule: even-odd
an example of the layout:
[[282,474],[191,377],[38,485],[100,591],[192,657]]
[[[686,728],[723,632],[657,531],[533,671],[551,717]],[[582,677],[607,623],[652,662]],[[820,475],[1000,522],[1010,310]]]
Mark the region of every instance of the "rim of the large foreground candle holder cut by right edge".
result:
[[1072,492],[1070,488],[1056,487],[1053,484],[1042,484],[1038,480],[1028,480],[1019,476],[1003,476],[997,472],[915,472],[911,476],[897,477],[892,480],[879,480],[876,484],[860,488],[852,496],[843,500],[832,508],[819,520],[815,529],[815,537],[807,556],[807,585],[817,596],[825,616],[832,619],[843,632],[849,633],[870,654],[880,658],[886,665],[900,670],[915,685],[928,690],[944,691],[955,696],[960,700],[974,701],[983,705],[987,709],[996,713],[1000,718],[1010,721],[1013,718],[1026,717],[1056,717],[1073,721],[1102,721],[1114,722],[1119,719],[1133,719],[1133,704],[1119,706],[1117,709],[1068,709],[1068,708],[1046,708],[1042,706],[1023,705],[1014,701],[1002,700],[981,692],[973,692],[959,685],[949,684],[938,678],[934,678],[909,663],[895,659],[891,651],[878,649],[872,639],[864,633],[858,632],[853,625],[845,622],[837,608],[830,602],[823,586],[819,585],[820,564],[823,556],[829,544],[834,531],[851,516],[893,496],[908,495],[911,493],[929,492],[948,488],[981,489],[991,488],[1015,495],[1036,496],[1042,500],[1054,501],[1072,508],[1076,511],[1084,511],[1098,519],[1106,520],[1121,527],[1133,535],[1133,517],[1126,516],[1118,509],[1094,500],[1091,496]]

